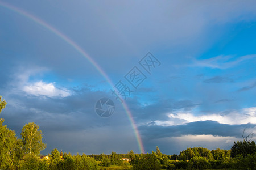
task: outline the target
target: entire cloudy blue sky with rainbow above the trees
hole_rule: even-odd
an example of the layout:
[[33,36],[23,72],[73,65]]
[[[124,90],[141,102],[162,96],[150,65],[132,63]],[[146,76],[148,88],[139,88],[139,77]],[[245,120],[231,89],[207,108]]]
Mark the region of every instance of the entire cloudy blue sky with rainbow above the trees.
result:
[[256,131],[255,64],[255,1],[0,0],[0,117],[42,154],[228,150]]

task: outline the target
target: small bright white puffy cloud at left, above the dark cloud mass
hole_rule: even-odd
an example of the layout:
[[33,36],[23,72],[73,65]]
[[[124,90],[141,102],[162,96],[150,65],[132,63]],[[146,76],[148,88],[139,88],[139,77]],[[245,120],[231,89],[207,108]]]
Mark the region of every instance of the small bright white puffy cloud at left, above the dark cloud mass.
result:
[[24,86],[23,91],[35,96],[67,97],[70,95],[67,89],[59,89],[56,88],[53,83],[47,84],[42,81]]

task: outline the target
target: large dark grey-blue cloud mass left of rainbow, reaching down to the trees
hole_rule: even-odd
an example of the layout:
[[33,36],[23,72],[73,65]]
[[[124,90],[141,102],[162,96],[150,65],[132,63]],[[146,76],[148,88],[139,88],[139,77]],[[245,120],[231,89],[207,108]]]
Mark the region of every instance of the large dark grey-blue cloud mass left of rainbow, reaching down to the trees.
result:
[[[112,150],[127,152],[131,149],[138,152],[133,130],[121,105],[115,103],[115,112],[110,118],[102,118],[96,114],[94,106],[102,97],[112,96],[87,87],[73,88],[72,95],[64,98],[11,94],[7,98],[13,100],[7,100],[1,117],[5,118],[5,124],[15,130],[18,137],[22,127],[28,122],[38,124],[44,134],[43,141],[47,143],[43,154],[55,147],[72,151],[72,154],[108,154]],[[112,133],[108,134],[108,131]],[[102,137],[105,144],[102,143]],[[125,141],[129,141],[129,144],[125,144]],[[97,149],[89,147],[92,145],[97,146]]]

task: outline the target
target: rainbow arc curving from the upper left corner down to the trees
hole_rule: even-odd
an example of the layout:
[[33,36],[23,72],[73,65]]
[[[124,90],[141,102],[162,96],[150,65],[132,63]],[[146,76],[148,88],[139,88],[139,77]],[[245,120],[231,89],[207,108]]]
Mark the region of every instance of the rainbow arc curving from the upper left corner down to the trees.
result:
[[[114,87],[112,80],[110,80],[109,76],[104,72],[104,70],[101,69],[101,67],[97,64],[97,62],[94,61],[93,58],[89,56],[89,54],[87,54],[79,45],[76,44],[76,42],[71,40],[69,37],[67,37],[60,31],[58,31],[56,28],[52,27],[51,25],[47,24],[43,20],[37,18],[34,15],[29,14],[26,11],[21,10],[20,8],[17,8],[15,6],[9,5],[9,4],[1,2],[1,1],[0,1],[0,6],[5,7],[10,11],[16,12],[17,14],[22,15],[27,19],[32,20],[33,22],[41,25],[42,27],[44,27],[44,28],[48,29],[49,31],[51,31],[52,33],[54,33],[56,36],[58,36],[63,41],[67,42],[67,44],[71,45],[74,49],[76,49],[77,52],[79,52],[84,58],[86,58],[96,68],[96,70],[106,79],[106,81],[110,84],[110,86]],[[135,124],[133,116],[132,116],[131,112],[129,111],[129,108],[128,108],[127,104],[125,103],[125,101],[123,101],[122,107],[123,107],[123,109],[125,109],[125,112],[129,118],[129,121],[131,122],[131,127],[133,128],[135,137],[137,139],[139,151],[141,153],[144,153],[144,147],[143,147],[141,136],[139,135],[139,131],[137,129],[137,126]]]

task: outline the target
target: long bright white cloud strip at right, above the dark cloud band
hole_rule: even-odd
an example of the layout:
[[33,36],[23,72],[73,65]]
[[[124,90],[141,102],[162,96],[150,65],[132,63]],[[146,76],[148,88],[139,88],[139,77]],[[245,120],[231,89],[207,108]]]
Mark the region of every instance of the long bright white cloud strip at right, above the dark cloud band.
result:
[[[213,113],[207,115],[195,115],[193,111],[176,111],[175,113],[168,114],[168,117],[172,119],[183,120],[183,122],[179,121],[179,124],[195,122],[195,121],[217,121],[220,124],[256,124],[256,107],[251,108],[243,108],[240,111],[232,111],[228,114],[221,114],[221,113]],[[171,121],[174,125],[176,121]],[[162,124],[167,124],[168,122],[161,122]],[[176,124],[177,125],[177,124]]]

